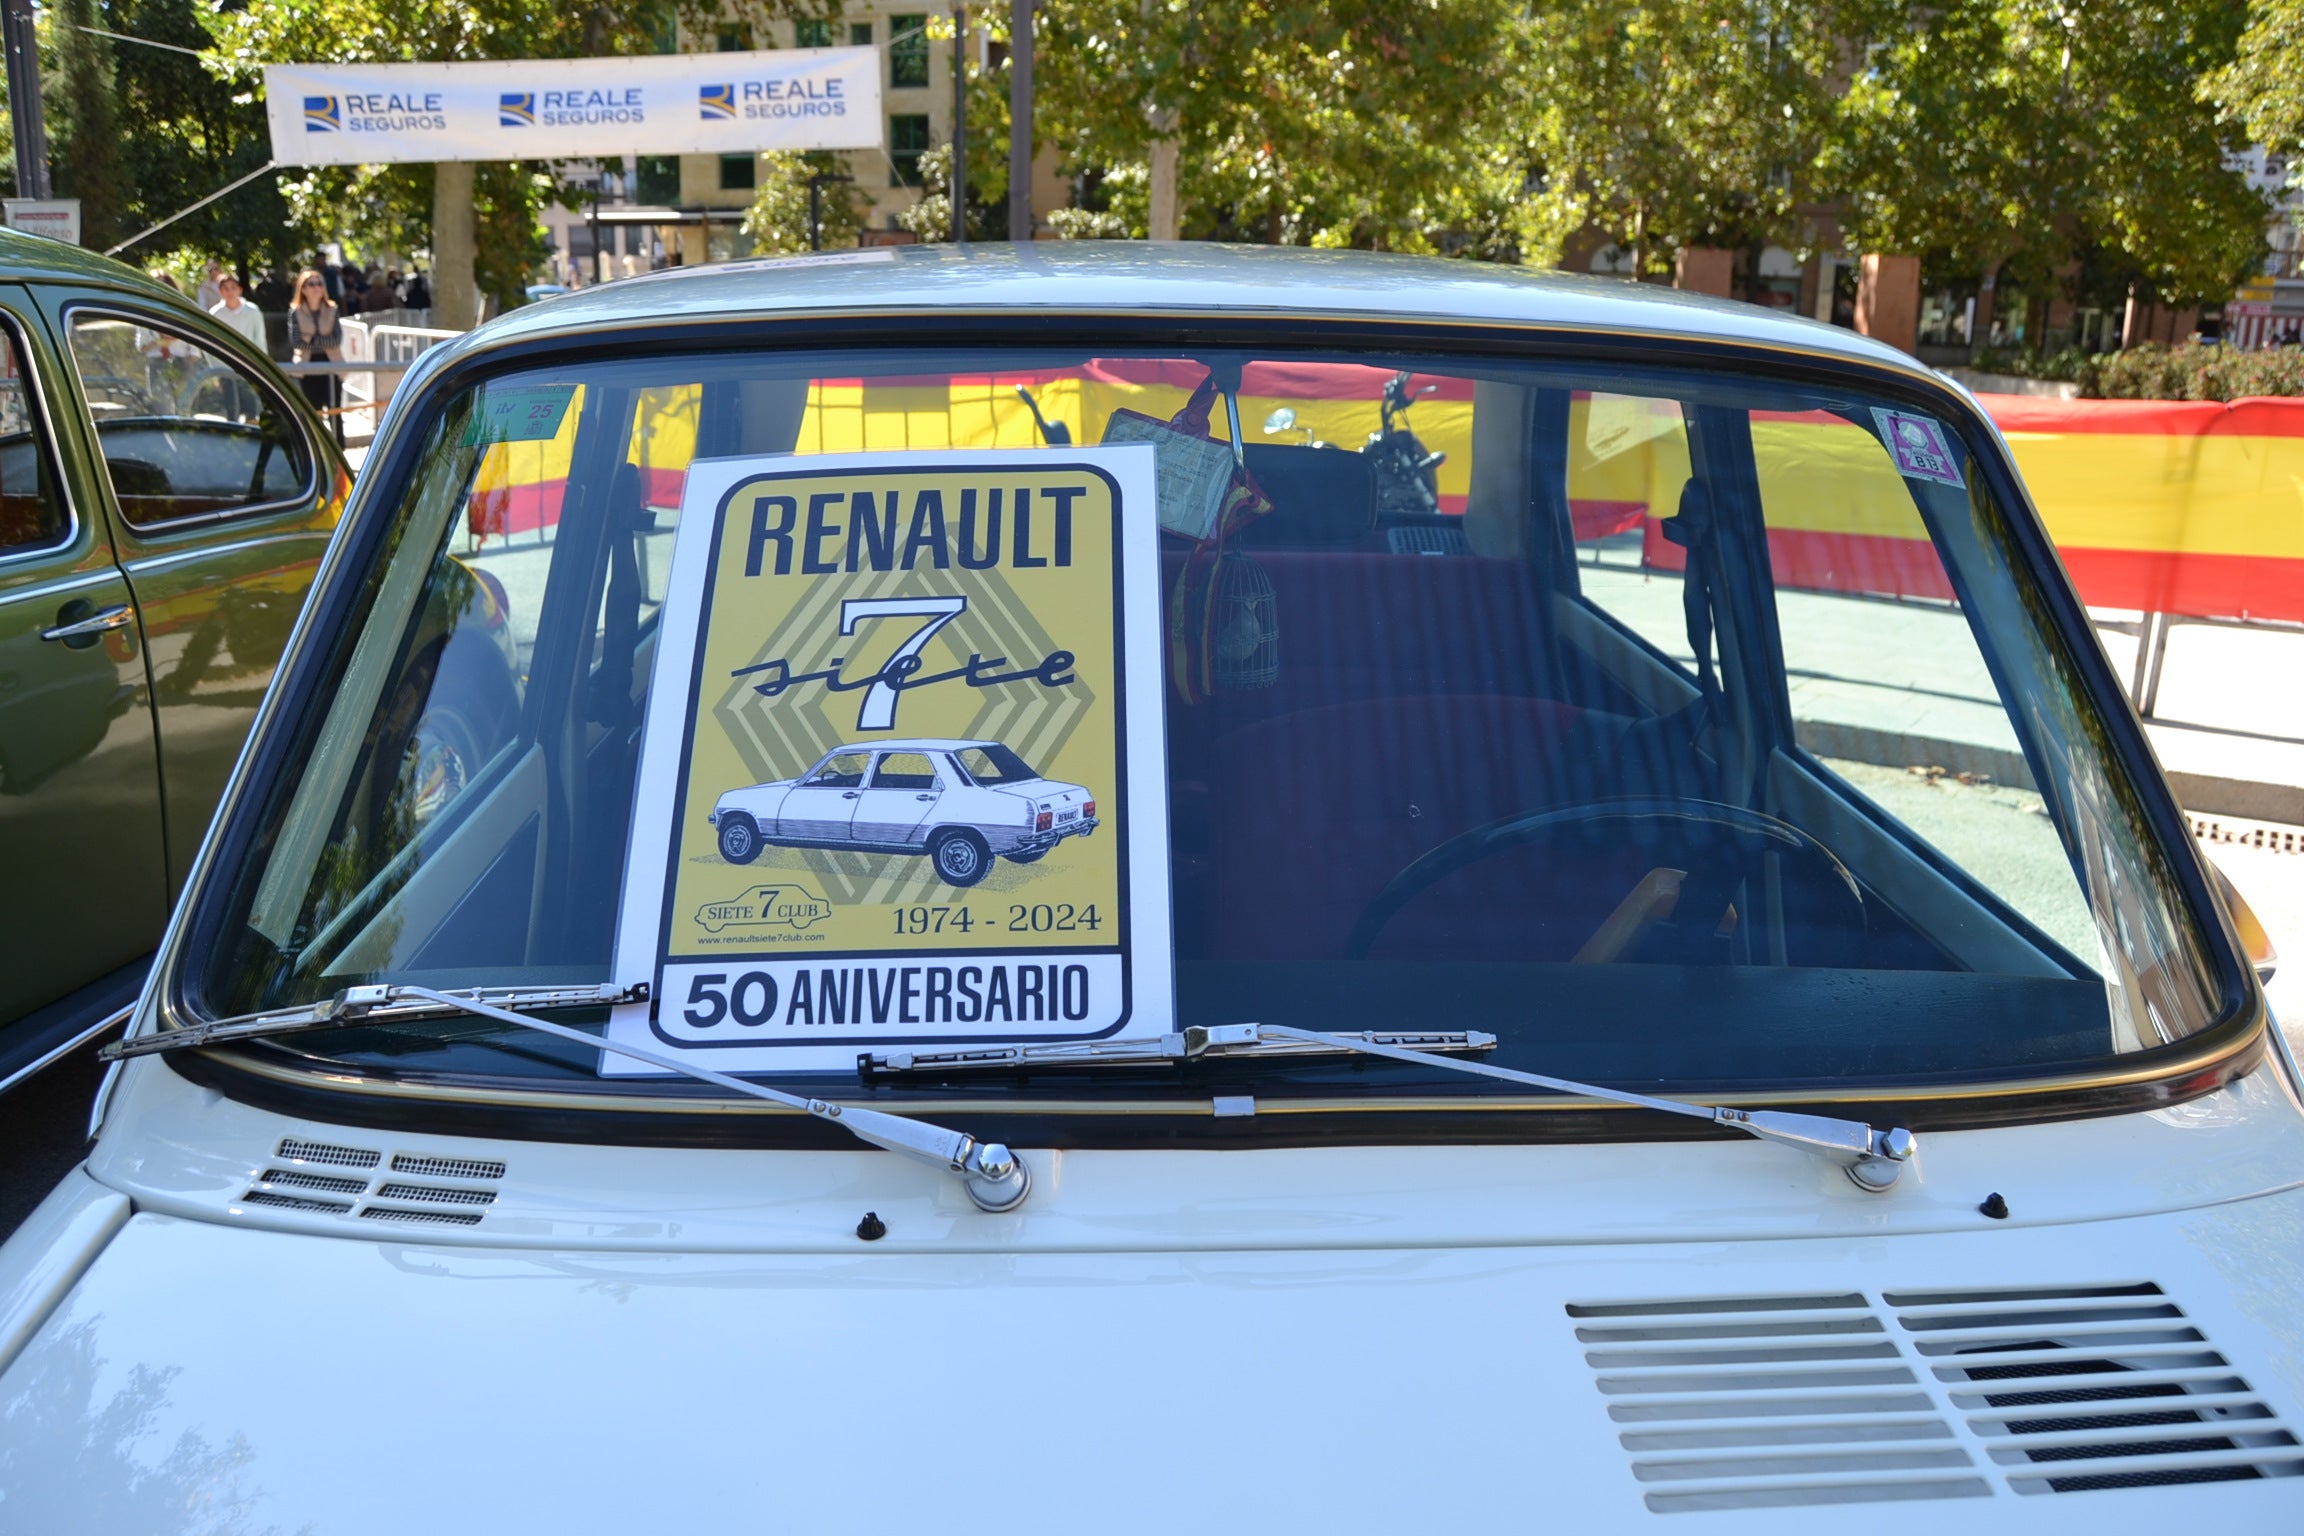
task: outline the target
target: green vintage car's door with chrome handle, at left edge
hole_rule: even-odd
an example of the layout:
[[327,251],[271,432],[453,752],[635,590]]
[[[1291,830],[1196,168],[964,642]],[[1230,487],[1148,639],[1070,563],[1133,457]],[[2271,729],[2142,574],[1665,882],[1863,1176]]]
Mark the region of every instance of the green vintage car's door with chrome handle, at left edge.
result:
[[[136,594],[69,394],[21,286],[0,286],[0,1080],[76,993],[131,993],[168,910],[159,751]],[[53,1025],[53,1027],[51,1027]],[[30,1039],[30,1036],[41,1039]]]

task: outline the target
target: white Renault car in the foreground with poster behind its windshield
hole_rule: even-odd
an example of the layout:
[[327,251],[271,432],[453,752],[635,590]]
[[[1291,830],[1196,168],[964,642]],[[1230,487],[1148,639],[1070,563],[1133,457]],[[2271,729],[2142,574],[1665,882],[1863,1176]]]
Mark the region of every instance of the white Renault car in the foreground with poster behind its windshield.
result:
[[[410,368],[0,1248],[0,1531],[2304,1531],[2304,1082],[1975,401],[1465,260],[866,256]],[[689,454],[1039,451],[988,380],[1355,442],[1403,368],[1440,511],[1251,442],[1164,550],[1129,1034],[606,1034],[682,1018],[615,944]],[[470,424],[558,408],[553,537],[465,555]],[[523,707],[442,788],[458,560]]]

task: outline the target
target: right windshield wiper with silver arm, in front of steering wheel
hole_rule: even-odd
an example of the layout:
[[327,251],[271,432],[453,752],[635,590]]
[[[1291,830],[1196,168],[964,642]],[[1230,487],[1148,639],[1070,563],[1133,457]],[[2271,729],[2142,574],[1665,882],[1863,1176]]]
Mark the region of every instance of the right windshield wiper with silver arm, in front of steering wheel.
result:
[[[1454,1045],[1417,1048],[1415,1041],[1458,1041]],[[1415,1066],[1438,1066],[1442,1071],[1475,1073],[1479,1078],[1495,1078],[1500,1082],[1521,1082],[1528,1087],[1551,1089],[1555,1094],[1581,1094],[1585,1098],[1606,1098],[1608,1103],[1624,1103],[1640,1110],[1661,1110],[1666,1115],[1682,1115],[1689,1119],[1707,1119],[1714,1126],[1728,1126],[1730,1131],[1744,1131],[1746,1135],[1758,1135],[1767,1142],[1779,1142],[1783,1147],[1797,1147],[1813,1156],[1839,1163],[1857,1188],[1880,1193],[1896,1184],[1903,1174],[1903,1165],[1912,1161],[1919,1149],[1919,1140],[1903,1126],[1889,1131],[1878,1131],[1859,1119],[1834,1119],[1829,1115],[1795,1115],[1790,1110],[1733,1110],[1728,1105],[1705,1105],[1705,1103],[1682,1103],[1677,1098],[1654,1098],[1650,1094],[1631,1094],[1627,1089],[1599,1087],[1597,1082],[1576,1082],[1571,1078],[1546,1078],[1541,1073],[1523,1073],[1509,1066],[1491,1066],[1488,1062],[1461,1062],[1456,1057],[1435,1055],[1435,1050],[1488,1050],[1495,1045],[1493,1034],[1481,1034],[1477,1029],[1461,1034],[1389,1034],[1380,1029],[1364,1029],[1357,1034],[1327,1034],[1320,1029],[1293,1029],[1288,1025],[1217,1025],[1207,1029],[1184,1029],[1182,1034],[1170,1034],[1152,1041],[1094,1041],[1104,1050],[1087,1050],[1083,1045],[1044,1045],[1044,1043],[1018,1043],[1018,1045],[977,1045],[972,1050],[949,1050],[949,1052],[889,1052],[878,1057],[859,1057],[857,1066],[866,1071],[949,1071],[949,1069],[975,1069],[975,1066],[1143,1066],[1154,1062],[1191,1062],[1207,1055],[1306,1055],[1306,1052],[1357,1052],[1371,1057],[1385,1057],[1389,1062],[1410,1062]],[[1196,1045],[1196,1048],[1193,1048]]]

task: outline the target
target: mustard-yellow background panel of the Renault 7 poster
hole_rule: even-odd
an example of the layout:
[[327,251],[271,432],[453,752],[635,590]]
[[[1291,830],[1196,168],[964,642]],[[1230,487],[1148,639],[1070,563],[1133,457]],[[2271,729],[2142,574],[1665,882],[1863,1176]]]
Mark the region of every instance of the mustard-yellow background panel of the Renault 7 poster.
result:
[[[882,550],[862,530],[850,530],[850,509],[857,495],[885,509],[892,491],[896,539]],[[1076,493],[1062,539],[1055,491]],[[991,553],[993,493],[1002,509],[998,557],[988,569],[965,569],[961,509],[975,509],[970,557],[982,562]],[[1028,493],[1030,507],[1021,546],[1018,493]],[[763,509],[763,497],[793,497],[799,516],[790,548],[763,543],[758,573],[746,573],[756,518],[774,525],[783,516]],[[811,541],[809,509],[825,497]],[[940,541],[924,500],[942,514]],[[691,735],[673,834],[666,958],[1117,949],[1127,806],[1115,532],[1115,491],[1085,465],[793,470],[740,481],[717,527],[687,700]],[[809,573],[809,555],[836,569]],[[779,557],[788,567],[783,573]],[[1018,557],[1046,564],[1018,564]],[[866,689],[829,689],[813,679],[763,695],[763,679],[779,672],[746,672],[783,661],[786,677],[832,668],[843,682],[871,677],[926,619],[869,617],[843,636],[841,603],[938,596],[963,596],[968,608],[922,647],[917,677],[963,670],[970,659],[979,659],[982,675],[1023,672],[1041,668],[1051,652],[1071,652],[1062,668],[1069,682],[1044,686],[1030,677],[977,689],[954,677],[910,686],[899,691],[894,730],[864,730]],[[1083,785],[1101,824],[1092,836],[1064,838],[1034,864],[995,859],[982,884],[968,889],[945,884],[926,852],[770,843],[751,864],[721,857],[705,818],[723,792],[795,778],[832,748],[912,739],[1002,742],[1044,778]],[[931,806],[929,827],[938,824],[945,801]]]

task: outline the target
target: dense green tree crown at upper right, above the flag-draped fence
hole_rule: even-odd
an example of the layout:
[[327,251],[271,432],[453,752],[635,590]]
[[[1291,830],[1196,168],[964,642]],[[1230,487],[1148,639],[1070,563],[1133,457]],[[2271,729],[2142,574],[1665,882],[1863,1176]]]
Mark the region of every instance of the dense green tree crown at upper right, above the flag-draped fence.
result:
[[2265,203],[2198,99],[2244,0],[1848,0],[1878,39],[1820,173],[1864,251],[2046,290],[2078,260],[2161,299],[2223,299],[2263,258]]

